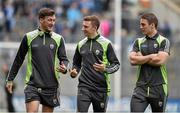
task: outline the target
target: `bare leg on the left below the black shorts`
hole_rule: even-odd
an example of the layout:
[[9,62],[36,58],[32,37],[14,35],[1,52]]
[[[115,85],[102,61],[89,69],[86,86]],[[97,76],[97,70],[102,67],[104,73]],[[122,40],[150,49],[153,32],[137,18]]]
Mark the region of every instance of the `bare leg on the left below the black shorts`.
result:
[[27,113],[37,113],[39,108],[39,101],[31,101],[26,103]]

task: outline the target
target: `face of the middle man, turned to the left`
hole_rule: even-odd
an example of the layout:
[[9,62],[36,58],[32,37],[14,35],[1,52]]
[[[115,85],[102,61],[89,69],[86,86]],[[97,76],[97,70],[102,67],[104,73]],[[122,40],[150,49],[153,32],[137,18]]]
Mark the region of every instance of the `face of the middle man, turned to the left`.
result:
[[82,31],[85,36],[89,37],[96,32],[96,27],[92,25],[91,21],[83,21]]

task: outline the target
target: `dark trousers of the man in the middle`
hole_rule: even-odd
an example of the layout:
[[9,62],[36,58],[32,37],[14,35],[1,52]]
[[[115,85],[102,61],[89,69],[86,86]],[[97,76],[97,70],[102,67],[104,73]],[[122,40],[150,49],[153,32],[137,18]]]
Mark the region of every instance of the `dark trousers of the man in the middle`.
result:
[[91,103],[94,112],[106,112],[108,99],[107,93],[78,88],[77,112],[88,112]]

